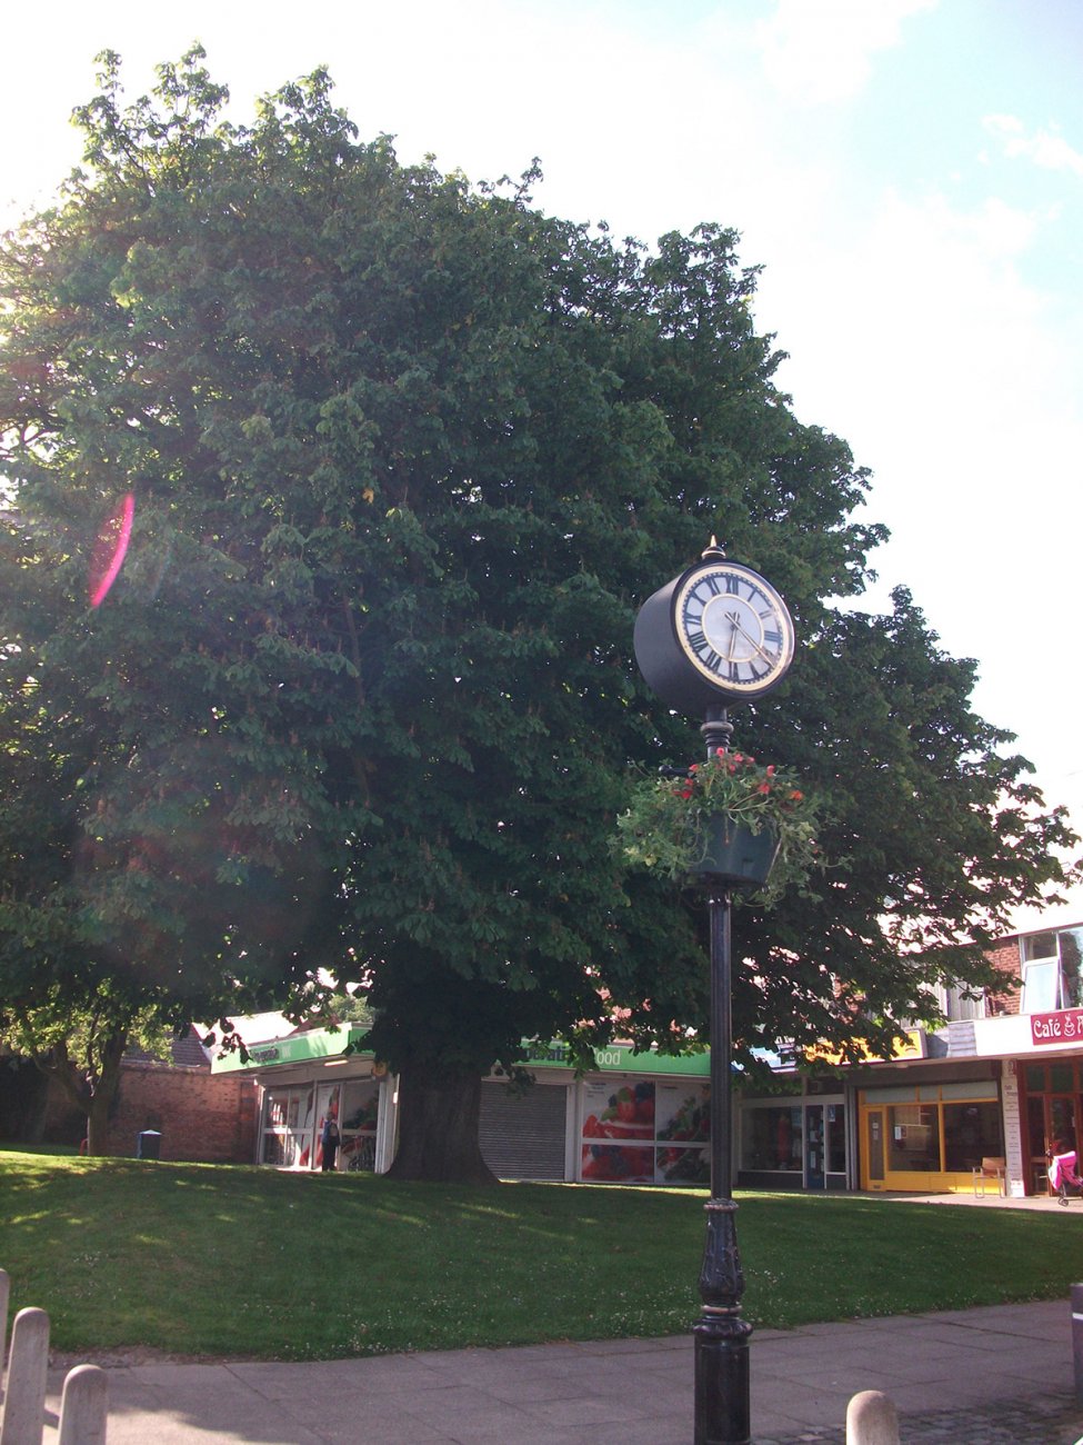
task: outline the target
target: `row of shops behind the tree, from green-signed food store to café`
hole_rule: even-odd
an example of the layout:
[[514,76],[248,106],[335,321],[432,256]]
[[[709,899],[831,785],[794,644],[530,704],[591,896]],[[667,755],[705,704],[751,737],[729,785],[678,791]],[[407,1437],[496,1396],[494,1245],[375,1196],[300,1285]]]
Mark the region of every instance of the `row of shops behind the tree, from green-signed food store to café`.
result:
[[[826,1078],[774,1061],[771,1091],[736,1087],[739,1188],[939,1194],[969,1191],[983,1159],[1002,1159],[1011,1195],[1044,1194],[1057,1140],[1083,1126],[1083,925],[1018,933],[993,962],[1002,993],[944,998],[947,1025],[914,1030],[888,1061]],[[397,1079],[357,1052],[364,1030],[315,1029],[217,1059],[260,1091],[256,1160],[321,1166],[328,1114],[336,1168],[386,1170],[394,1157]],[[709,1055],[599,1049],[576,1077],[554,1045],[526,1061],[534,1087],[494,1068],[482,1087],[481,1146],[505,1179],[706,1185]]]

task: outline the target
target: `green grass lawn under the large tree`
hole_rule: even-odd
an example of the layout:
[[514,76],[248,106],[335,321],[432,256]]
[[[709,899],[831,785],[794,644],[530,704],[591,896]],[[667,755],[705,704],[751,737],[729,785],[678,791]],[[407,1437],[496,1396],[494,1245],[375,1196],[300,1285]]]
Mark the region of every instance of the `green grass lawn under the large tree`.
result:
[[[702,1191],[394,1183],[0,1150],[0,1267],[62,1351],[329,1360],[682,1334]],[[1083,1209],[738,1195],[755,1325],[1069,1298]]]

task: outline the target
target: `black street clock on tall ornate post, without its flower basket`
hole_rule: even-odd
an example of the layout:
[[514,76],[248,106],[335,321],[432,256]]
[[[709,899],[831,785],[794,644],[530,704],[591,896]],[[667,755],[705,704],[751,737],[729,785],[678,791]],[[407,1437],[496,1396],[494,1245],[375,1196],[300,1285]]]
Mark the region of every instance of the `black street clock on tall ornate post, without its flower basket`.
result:
[[[775,590],[729,562],[713,540],[703,558],[667,582],[635,618],[635,659],[647,683],[679,712],[706,718],[708,757],[728,750],[726,705],[764,696],[793,660],[794,631]],[[710,1198],[699,1273],[703,1300],[693,1327],[695,1445],[748,1445],[749,1337],[732,1194],[732,958],[735,879],[700,874],[710,925]]]

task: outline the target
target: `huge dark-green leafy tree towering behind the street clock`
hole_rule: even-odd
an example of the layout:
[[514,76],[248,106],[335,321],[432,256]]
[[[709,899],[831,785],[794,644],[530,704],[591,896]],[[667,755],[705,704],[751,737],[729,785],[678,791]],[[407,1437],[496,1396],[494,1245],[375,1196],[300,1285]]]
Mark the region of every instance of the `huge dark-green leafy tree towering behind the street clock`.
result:
[[478,1081],[523,1036],[702,1025],[700,910],[608,842],[630,764],[696,756],[631,626],[712,533],[797,618],[741,741],[816,780],[833,863],[744,913],[742,1040],[890,1033],[976,977],[1063,819],[908,597],[826,604],[882,532],[774,386],[734,233],[648,253],[539,214],[530,175],[401,166],[323,72],[232,126],[201,62],[126,107],[104,56],[85,171],[0,257],[4,767],[58,777],[22,779],[51,861],[16,848],[0,993],[48,957],[218,1012],[328,967],[403,1074],[396,1169],[484,1178]]

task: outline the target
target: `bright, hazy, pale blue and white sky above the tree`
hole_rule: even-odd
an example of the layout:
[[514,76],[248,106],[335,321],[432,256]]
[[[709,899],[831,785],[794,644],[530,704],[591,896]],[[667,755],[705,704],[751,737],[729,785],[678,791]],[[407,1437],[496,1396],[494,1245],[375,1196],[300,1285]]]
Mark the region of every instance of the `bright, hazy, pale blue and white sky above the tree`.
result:
[[874,473],[871,605],[911,588],[1083,831],[1079,0],[46,0],[4,30],[7,221],[75,162],[97,51],[139,94],[198,38],[240,118],[326,64],[403,160],[477,181],[539,156],[552,212],[738,230],[797,415]]

